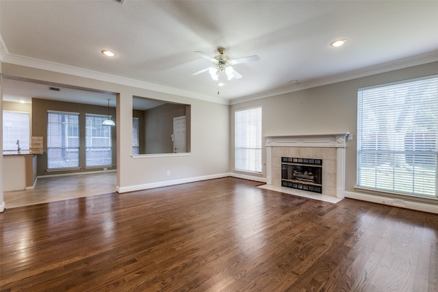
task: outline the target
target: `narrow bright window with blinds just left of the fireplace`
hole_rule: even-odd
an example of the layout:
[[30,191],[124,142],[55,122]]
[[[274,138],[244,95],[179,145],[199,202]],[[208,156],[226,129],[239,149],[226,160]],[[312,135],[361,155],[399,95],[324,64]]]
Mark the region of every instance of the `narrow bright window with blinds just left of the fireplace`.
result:
[[235,111],[235,170],[261,173],[261,107]]

